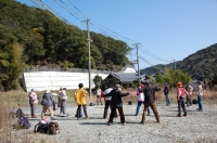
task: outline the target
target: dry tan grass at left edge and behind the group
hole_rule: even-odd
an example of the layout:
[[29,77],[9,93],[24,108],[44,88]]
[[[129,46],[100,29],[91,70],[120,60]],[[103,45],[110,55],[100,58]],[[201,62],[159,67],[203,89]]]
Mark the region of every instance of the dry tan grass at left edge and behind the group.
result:
[[[123,98],[124,104],[131,101],[137,104],[136,89],[123,89],[123,92],[130,91],[130,95]],[[43,92],[38,92],[39,96],[42,98]],[[67,91],[68,103],[75,105],[73,98],[73,91]],[[176,89],[170,91],[171,103],[176,102]],[[196,95],[194,96],[196,98]],[[95,94],[91,98],[87,96],[87,104],[95,104]],[[165,104],[165,96],[163,91],[156,92],[156,103]],[[217,104],[217,92],[204,91],[204,104]],[[29,106],[27,93],[24,91],[10,91],[0,92],[0,141],[1,142],[22,142],[22,143],[58,143],[58,139],[48,134],[34,134],[31,130],[14,130],[13,125],[17,121],[16,118],[11,116],[11,112],[17,107]],[[69,142],[69,140],[68,140]]]

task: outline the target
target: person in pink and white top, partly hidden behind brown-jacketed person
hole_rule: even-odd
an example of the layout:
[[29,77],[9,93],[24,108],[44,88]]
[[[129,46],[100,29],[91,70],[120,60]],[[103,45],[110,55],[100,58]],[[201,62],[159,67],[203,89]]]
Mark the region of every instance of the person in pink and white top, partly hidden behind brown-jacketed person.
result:
[[[137,100],[138,100],[138,103],[137,103],[137,109],[136,109],[136,114],[135,116],[138,116],[139,114],[139,109],[141,107],[142,104],[144,104],[144,84],[140,84],[140,87],[138,88],[137,90]],[[148,108],[148,116],[150,116],[150,108]]]

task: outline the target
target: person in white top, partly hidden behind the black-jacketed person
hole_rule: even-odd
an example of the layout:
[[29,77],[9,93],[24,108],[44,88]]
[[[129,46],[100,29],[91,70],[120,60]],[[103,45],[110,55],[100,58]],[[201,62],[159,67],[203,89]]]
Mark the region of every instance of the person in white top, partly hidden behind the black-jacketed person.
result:
[[[112,90],[113,90],[112,86],[108,84],[107,89],[104,91],[103,94],[108,94]],[[107,117],[107,110],[108,110],[108,107],[111,107],[111,103],[112,103],[112,96],[106,96],[105,98],[104,114],[103,114],[104,119]],[[115,118],[117,118],[117,112],[115,112]]]

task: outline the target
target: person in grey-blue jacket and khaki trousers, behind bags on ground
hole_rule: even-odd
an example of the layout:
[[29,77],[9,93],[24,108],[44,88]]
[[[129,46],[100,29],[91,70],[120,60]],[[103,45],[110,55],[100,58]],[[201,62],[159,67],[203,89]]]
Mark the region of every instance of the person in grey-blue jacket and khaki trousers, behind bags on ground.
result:
[[42,96],[42,101],[41,101],[41,105],[42,105],[42,113],[41,113],[41,120],[43,119],[46,112],[49,110],[50,113],[50,117],[51,119],[53,119],[53,96],[50,93],[50,90],[46,90],[43,96]]

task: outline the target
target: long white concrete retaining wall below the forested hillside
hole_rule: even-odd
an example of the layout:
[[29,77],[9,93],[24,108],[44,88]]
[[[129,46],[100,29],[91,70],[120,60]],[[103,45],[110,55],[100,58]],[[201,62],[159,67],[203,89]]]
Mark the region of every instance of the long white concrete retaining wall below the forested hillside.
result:
[[[105,79],[108,74],[91,74],[91,88],[94,88],[92,79],[95,75]],[[29,92],[31,89],[43,91],[46,89],[59,90],[61,87],[66,89],[77,89],[78,83],[84,83],[85,88],[89,88],[88,73],[67,73],[67,72],[36,72],[24,73],[24,89]]]

